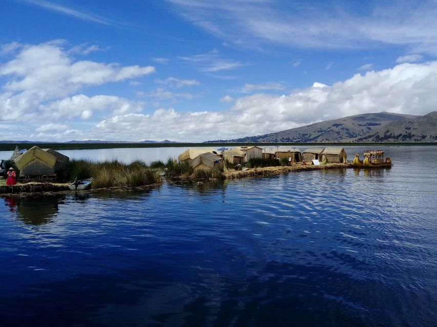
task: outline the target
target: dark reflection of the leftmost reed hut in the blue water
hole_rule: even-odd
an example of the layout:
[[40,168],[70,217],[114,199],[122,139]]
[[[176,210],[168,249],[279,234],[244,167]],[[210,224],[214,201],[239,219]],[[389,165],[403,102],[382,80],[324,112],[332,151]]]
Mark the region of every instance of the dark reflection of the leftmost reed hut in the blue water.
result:
[[58,203],[65,194],[32,196],[17,200],[17,218],[29,225],[47,224],[58,212]]

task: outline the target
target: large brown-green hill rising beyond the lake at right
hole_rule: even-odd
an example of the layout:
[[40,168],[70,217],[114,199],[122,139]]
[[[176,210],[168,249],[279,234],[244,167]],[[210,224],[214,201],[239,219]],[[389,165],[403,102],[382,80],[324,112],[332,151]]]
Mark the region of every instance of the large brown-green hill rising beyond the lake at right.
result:
[[366,113],[280,132],[205,143],[437,142],[437,111]]

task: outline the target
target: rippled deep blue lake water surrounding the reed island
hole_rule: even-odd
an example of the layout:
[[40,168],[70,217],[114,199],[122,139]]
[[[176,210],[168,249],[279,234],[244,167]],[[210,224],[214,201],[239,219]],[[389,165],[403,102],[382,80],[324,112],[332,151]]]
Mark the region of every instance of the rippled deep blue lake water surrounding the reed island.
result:
[[437,147],[383,149],[391,169],[0,198],[0,323],[435,326]]

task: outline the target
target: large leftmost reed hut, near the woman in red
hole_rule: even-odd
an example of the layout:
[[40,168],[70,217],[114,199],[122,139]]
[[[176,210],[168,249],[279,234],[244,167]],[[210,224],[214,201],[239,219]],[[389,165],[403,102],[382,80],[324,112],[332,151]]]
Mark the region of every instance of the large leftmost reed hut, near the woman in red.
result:
[[20,171],[21,176],[41,176],[53,175],[70,159],[51,149],[40,149],[37,146],[15,159],[15,165]]

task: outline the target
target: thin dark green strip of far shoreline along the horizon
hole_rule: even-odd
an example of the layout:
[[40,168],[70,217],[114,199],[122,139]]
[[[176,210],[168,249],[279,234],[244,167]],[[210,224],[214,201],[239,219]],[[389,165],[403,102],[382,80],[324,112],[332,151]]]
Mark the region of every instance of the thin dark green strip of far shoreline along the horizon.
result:
[[384,146],[437,146],[437,142],[389,142],[389,143],[0,143],[0,151],[14,151],[15,146],[20,149],[30,149],[38,146],[41,149],[52,150],[93,150],[93,149],[122,149],[122,148],[182,148],[182,147],[237,147],[237,146],[341,146],[341,147],[384,147]]

